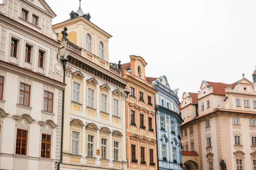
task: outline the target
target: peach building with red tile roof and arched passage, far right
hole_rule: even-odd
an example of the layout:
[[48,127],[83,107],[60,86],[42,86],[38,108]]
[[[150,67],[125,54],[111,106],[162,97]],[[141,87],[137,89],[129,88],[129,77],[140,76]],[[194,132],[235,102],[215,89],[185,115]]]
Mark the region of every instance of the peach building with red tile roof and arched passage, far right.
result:
[[183,93],[184,169],[256,169],[255,80],[203,81],[198,94]]

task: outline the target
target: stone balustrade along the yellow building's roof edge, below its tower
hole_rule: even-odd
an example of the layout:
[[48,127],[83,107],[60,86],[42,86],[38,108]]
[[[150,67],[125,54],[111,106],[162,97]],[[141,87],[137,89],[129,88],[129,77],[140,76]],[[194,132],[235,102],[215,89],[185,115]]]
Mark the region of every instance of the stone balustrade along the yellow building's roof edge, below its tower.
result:
[[67,39],[61,39],[62,41],[62,47],[66,47],[67,50],[70,52],[73,52],[90,62],[95,63],[96,65],[99,65],[102,68],[105,68],[106,70],[110,71],[111,73],[122,76],[122,71],[116,68],[115,66],[111,65],[109,62],[106,62],[105,60],[97,57],[96,55],[86,51],[84,48],[79,47],[78,45],[68,41]]

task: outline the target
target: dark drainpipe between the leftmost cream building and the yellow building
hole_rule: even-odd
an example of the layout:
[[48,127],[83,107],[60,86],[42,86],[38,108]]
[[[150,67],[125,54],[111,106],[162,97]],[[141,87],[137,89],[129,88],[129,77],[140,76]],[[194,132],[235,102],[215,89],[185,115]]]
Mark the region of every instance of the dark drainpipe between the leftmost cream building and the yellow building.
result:
[[[61,62],[63,65],[63,83],[65,83],[65,79],[66,79],[66,65],[67,65],[67,59],[65,58],[64,55],[61,55]],[[63,131],[64,131],[64,103],[65,103],[65,88],[62,91],[62,119],[61,119],[61,160],[58,161],[58,170],[60,170],[60,165],[62,162],[62,153],[63,153]]]

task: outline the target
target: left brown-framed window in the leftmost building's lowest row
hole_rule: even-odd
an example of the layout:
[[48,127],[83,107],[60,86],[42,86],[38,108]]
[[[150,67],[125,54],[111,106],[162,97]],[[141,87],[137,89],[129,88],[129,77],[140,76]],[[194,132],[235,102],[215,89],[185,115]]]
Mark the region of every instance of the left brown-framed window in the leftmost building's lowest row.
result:
[[28,131],[23,129],[17,129],[15,153],[18,155],[26,155],[27,142],[28,142]]

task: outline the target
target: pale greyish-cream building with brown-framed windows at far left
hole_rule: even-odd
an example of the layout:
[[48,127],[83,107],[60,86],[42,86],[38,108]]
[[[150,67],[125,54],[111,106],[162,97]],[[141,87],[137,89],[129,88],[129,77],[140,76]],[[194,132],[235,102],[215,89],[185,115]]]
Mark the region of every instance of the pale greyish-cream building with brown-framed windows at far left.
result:
[[65,84],[55,16],[44,0],[0,4],[1,170],[52,170],[60,160]]

